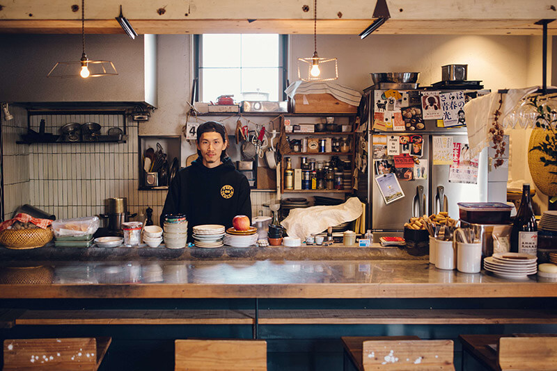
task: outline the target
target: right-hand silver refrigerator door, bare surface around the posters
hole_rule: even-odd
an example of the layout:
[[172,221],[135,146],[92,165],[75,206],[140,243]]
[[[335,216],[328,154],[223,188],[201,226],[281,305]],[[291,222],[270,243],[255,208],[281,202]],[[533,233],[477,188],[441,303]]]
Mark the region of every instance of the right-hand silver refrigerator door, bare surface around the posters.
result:
[[[466,135],[452,136],[453,143],[468,143]],[[450,165],[434,165],[432,157],[431,171],[431,213],[448,211],[453,219],[458,219],[458,202],[485,202],[487,201],[487,149],[480,153],[478,162],[478,183],[452,183],[449,181]],[[440,202],[442,200],[442,202]]]

